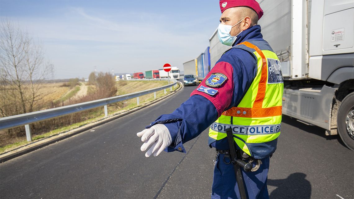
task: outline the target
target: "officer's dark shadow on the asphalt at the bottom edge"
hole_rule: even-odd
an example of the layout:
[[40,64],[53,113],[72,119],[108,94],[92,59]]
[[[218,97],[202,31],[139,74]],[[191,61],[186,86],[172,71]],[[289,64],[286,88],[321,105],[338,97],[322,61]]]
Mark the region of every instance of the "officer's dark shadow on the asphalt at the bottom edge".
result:
[[286,179],[268,179],[269,186],[278,187],[270,193],[270,199],[310,199],[311,184],[305,179],[306,174],[293,173]]

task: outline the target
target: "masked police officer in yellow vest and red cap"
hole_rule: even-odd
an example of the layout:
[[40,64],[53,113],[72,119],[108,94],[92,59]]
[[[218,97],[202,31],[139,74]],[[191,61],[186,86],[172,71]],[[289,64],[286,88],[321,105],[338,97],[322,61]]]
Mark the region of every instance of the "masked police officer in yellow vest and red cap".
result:
[[[190,98],[171,114],[161,115],[137,133],[146,157],[185,153],[183,143],[210,126],[209,146],[217,150],[211,198],[240,198],[229,163],[225,129],[236,148],[258,170],[242,170],[247,198],[269,198],[269,158],[280,134],[283,79],[279,59],[257,25],[263,11],[255,0],[221,0],[219,40],[232,46],[216,62]],[[258,161],[259,160],[259,161]]]

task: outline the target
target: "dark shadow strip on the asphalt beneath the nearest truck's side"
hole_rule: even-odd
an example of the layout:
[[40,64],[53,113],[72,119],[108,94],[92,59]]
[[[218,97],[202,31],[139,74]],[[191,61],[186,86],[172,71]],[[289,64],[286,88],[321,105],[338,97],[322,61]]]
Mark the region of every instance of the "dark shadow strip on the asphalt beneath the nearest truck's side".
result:
[[341,143],[344,147],[347,147],[344,144],[344,142],[342,141],[341,137],[339,137],[339,135],[326,136],[325,129],[322,129],[321,127],[303,124],[299,121],[296,121],[295,118],[291,118],[287,115],[282,115],[281,122],[284,122],[284,123],[289,124],[291,126],[295,126],[303,131],[306,131],[306,132],[318,135],[320,137],[326,138],[326,140],[338,140],[338,142]]

